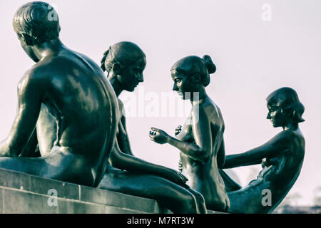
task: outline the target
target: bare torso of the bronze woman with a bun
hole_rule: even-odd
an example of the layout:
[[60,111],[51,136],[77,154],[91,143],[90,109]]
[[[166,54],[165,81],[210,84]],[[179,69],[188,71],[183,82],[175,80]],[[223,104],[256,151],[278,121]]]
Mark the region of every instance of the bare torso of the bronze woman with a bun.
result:
[[[218,172],[217,155],[223,141],[224,121],[220,109],[212,100],[205,100],[203,108],[208,114],[211,124],[211,133],[213,139],[213,150],[208,162],[200,162],[191,159],[180,152],[180,161],[183,166],[183,174],[188,177],[187,184],[194,190],[202,193],[207,207],[210,209],[225,209],[228,207],[228,196],[225,192],[225,185]],[[193,110],[192,110],[193,112]],[[193,114],[191,114],[193,115]],[[195,143],[193,128],[190,125],[190,118],[177,135],[178,140]]]

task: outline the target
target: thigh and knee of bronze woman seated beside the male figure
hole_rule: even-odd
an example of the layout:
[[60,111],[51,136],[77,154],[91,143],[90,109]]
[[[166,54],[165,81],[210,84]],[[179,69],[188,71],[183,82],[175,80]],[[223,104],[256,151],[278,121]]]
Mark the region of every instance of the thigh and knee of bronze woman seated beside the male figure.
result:
[[159,204],[170,209],[173,213],[198,213],[194,195],[184,187],[175,185],[162,177],[109,170],[98,187],[128,195],[156,199]]

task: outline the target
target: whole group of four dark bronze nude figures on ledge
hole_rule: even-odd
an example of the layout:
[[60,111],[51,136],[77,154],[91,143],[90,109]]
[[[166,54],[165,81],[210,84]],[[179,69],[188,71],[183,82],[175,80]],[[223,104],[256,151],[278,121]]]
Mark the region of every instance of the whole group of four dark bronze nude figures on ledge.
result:
[[[205,90],[216,66],[210,56],[182,58],[170,73],[173,90],[192,104],[190,116],[175,137],[158,128],[149,133],[154,142],[180,150],[180,170],[146,162],[131,151],[118,99],[143,82],[145,53],[134,43],[116,43],[99,67],[63,45],[49,6],[31,2],[14,15],[14,31],[36,64],[19,83],[19,108],[0,143],[0,168],[156,199],[174,213],[270,213],[280,204],[305,154],[298,125],[304,106],[295,90],[280,88],[267,97],[267,119],[282,132],[253,150],[225,156],[223,115]],[[263,170],[245,187],[223,171],[255,164]],[[271,205],[263,205],[263,190],[270,190]]]

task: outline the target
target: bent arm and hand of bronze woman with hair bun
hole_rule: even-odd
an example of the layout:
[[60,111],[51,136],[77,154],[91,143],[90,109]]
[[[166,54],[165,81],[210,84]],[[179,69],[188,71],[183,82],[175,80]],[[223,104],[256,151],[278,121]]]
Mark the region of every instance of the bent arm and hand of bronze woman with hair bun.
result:
[[[201,107],[198,110],[195,110],[192,115],[192,121],[195,144],[177,140],[163,130],[157,128],[151,128],[152,132],[150,133],[150,138],[154,142],[161,144],[169,143],[170,145],[173,145],[193,160],[207,162],[210,159],[213,143],[210,121],[208,120],[205,110]],[[153,132],[156,132],[157,134],[154,134]]]

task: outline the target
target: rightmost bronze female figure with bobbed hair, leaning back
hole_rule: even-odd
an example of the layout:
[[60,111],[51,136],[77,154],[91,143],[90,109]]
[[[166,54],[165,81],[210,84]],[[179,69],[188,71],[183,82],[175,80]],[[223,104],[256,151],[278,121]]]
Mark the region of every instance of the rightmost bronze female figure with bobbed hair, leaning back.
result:
[[[230,213],[270,213],[290,191],[300,174],[305,155],[305,139],[299,128],[304,106],[292,88],[280,88],[267,97],[267,119],[282,131],[265,144],[247,152],[225,157],[224,168],[262,163],[256,180],[237,191],[228,192]],[[227,176],[225,176],[227,177]],[[270,192],[271,204],[262,201]]]

